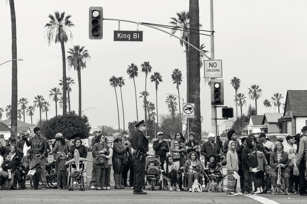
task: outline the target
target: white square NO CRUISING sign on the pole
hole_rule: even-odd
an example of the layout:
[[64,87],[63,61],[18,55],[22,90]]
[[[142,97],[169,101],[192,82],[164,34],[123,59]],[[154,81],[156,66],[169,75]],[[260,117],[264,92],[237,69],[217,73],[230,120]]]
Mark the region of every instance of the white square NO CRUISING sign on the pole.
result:
[[205,78],[222,78],[222,60],[204,60]]

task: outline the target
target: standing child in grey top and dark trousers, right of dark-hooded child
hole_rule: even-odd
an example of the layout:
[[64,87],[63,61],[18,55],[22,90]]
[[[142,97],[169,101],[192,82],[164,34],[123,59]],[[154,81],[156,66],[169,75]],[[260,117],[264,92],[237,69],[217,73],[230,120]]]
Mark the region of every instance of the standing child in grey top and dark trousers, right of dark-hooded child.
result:
[[255,193],[263,193],[264,190],[262,189],[263,181],[265,180],[265,174],[264,169],[266,165],[268,164],[266,156],[265,156],[265,147],[261,145],[256,145],[257,149],[257,161],[258,161],[258,170],[254,176],[255,176],[255,185],[257,188],[257,191]]

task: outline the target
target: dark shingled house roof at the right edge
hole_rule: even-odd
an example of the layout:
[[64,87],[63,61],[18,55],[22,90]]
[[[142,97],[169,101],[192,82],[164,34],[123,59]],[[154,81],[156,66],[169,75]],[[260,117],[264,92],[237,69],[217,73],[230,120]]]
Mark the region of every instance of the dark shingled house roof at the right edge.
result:
[[284,113],[286,113],[287,106],[291,107],[294,117],[306,117],[307,116],[307,90],[288,90],[286,106],[284,107]]

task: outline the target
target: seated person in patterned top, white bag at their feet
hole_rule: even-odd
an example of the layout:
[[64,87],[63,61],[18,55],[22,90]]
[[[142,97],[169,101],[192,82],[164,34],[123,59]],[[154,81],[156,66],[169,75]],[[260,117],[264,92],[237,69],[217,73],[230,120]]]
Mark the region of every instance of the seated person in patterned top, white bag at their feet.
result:
[[192,184],[194,180],[198,180],[201,173],[204,170],[202,162],[198,160],[198,156],[195,151],[191,151],[189,159],[183,165],[185,172],[188,174],[188,189],[192,192]]

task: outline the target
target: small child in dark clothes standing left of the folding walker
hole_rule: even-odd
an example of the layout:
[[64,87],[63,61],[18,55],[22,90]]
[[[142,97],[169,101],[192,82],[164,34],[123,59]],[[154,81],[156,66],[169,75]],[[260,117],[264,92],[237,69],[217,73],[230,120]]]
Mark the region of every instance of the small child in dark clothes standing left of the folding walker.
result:
[[63,187],[63,190],[67,189],[67,166],[65,165],[66,163],[66,155],[65,153],[61,153],[56,156],[56,162],[57,162],[57,190],[61,190],[61,187]]

